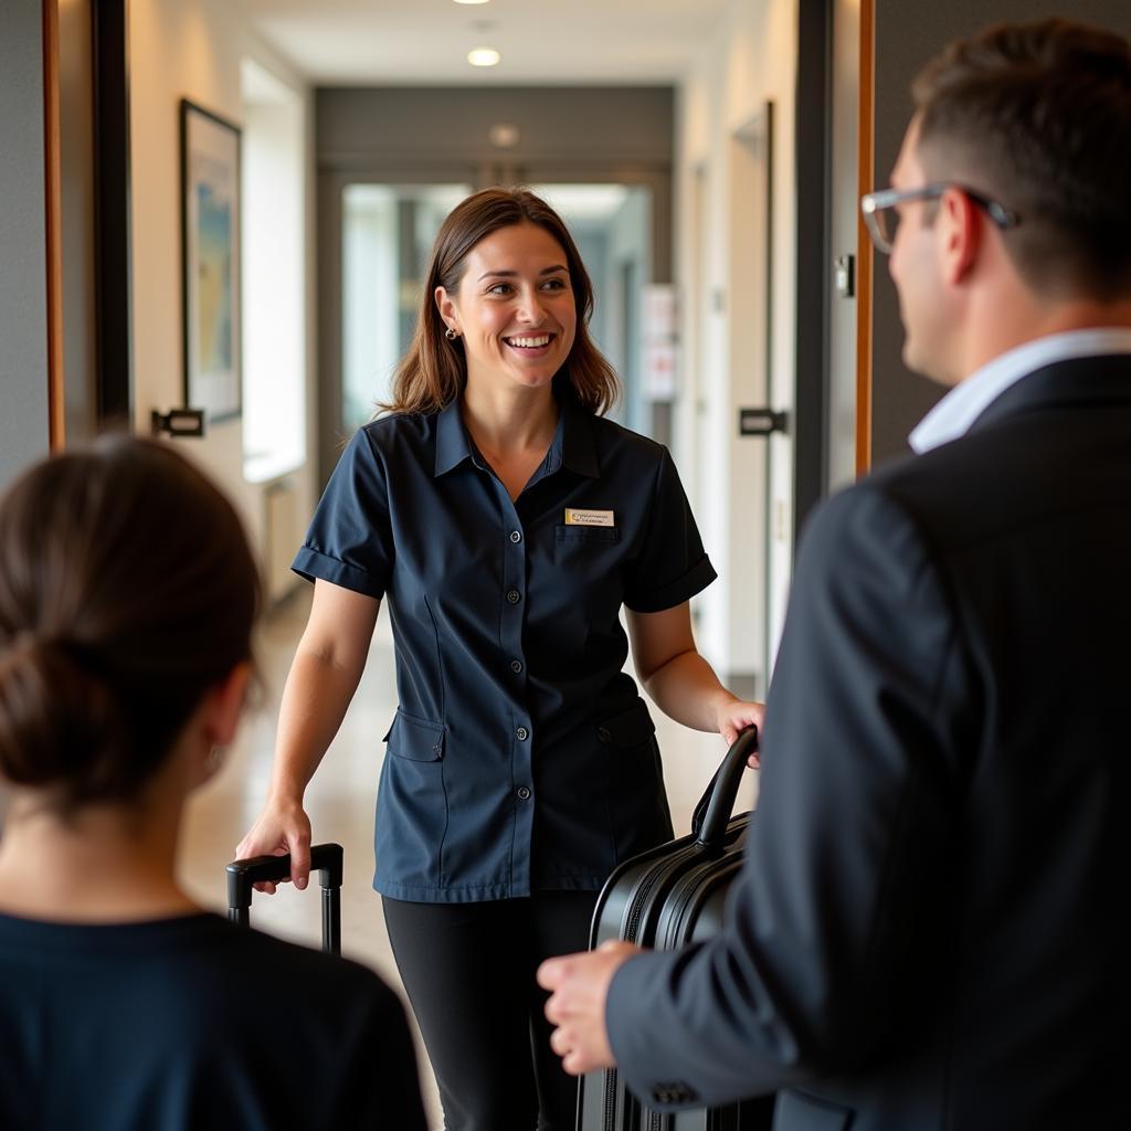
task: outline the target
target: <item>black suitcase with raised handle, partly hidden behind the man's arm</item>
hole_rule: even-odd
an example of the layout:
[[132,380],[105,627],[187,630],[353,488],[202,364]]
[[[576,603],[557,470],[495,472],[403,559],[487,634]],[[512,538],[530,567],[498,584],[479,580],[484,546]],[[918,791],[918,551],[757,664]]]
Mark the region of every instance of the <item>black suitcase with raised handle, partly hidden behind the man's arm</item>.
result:
[[[731,882],[742,867],[750,813],[732,817],[746,758],[758,733],[744,731],[696,806],[691,835],[624,861],[597,898],[589,946],[623,939],[673,950],[717,934]],[[615,1070],[581,1078],[577,1131],[769,1131],[774,1097],[727,1107],[655,1112]]]

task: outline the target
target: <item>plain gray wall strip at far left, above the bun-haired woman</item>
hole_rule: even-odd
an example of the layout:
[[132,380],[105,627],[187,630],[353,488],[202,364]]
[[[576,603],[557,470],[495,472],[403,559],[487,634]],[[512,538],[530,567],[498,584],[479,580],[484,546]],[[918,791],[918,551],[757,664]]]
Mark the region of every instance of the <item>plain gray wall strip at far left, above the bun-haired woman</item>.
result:
[[49,443],[42,19],[0,5],[0,487]]

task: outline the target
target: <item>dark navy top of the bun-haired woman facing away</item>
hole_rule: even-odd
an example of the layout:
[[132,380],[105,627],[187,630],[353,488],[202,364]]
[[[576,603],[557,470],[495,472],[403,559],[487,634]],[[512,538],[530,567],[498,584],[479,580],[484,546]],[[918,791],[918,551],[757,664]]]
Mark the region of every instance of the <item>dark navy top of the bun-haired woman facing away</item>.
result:
[[425,1131],[372,970],[216,915],[0,915],[3,1131]]

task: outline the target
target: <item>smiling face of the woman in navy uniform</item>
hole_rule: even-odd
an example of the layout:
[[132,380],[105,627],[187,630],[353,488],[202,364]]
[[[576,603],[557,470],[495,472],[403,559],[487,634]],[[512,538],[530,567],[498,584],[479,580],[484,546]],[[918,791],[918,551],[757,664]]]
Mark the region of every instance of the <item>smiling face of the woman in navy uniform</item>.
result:
[[536,224],[513,224],[468,252],[455,294],[435,288],[444,322],[464,339],[468,381],[549,385],[577,333],[561,244]]

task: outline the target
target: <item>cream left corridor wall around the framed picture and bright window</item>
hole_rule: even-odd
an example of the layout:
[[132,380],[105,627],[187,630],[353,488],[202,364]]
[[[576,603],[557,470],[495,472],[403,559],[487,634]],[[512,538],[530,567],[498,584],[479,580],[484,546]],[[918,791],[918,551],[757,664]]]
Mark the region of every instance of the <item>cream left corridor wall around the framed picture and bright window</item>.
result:
[[[183,403],[181,363],[181,187],[180,100],[190,98],[242,124],[240,61],[254,59],[303,100],[308,137],[307,262],[313,256],[313,139],[309,88],[283,60],[257,40],[223,0],[133,0],[130,6],[130,130],[133,224],[135,425],[149,431],[153,408]],[[294,544],[313,511],[316,448],[313,396],[314,288],[308,270],[305,353],[307,461],[288,476],[297,492]],[[222,422],[204,440],[175,441],[199,457],[233,497],[260,552],[265,535],[265,491],[243,476],[240,420]]]

